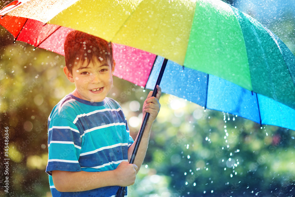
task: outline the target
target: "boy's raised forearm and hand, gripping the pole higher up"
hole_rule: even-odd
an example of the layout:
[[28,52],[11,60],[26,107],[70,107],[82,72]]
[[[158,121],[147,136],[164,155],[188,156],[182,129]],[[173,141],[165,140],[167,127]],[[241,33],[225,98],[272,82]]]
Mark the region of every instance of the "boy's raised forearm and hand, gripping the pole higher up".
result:
[[[161,96],[161,88],[158,85],[157,85],[157,90],[158,90],[158,92],[157,92],[156,97],[152,97],[153,91],[151,91],[148,94],[148,97],[145,100],[145,102],[143,104],[143,108],[142,108],[143,118],[145,117],[145,113],[150,113],[150,116],[149,116],[148,122],[145,126],[145,131],[143,132],[142,139],[140,141],[140,145],[139,145],[139,148],[137,150],[137,154],[136,154],[136,157],[134,160],[134,164],[137,165],[137,167],[138,167],[138,169],[136,170],[137,172],[139,171],[139,169],[142,165],[143,159],[145,158],[145,154],[148,149],[148,142],[150,139],[150,131],[151,131],[153,122],[155,121],[155,119],[160,111],[159,99]],[[143,118],[142,118],[142,120],[143,120]],[[131,158],[137,138],[138,138],[138,134],[137,134],[136,139],[134,140],[134,143],[128,149],[128,160],[130,160],[130,158]]]

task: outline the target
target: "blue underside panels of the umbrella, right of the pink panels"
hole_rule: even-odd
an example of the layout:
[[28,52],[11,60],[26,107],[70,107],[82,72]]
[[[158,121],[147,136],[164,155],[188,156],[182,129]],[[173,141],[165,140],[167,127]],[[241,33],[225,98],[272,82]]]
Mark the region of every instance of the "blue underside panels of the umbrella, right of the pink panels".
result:
[[[164,58],[157,56],[146,88],[153,89]],[[217,76],[186,68],[168,60],[160,84],[162,92],[207,109],[237,115],[261,125],[295,130],[295,109],[256,94]]]

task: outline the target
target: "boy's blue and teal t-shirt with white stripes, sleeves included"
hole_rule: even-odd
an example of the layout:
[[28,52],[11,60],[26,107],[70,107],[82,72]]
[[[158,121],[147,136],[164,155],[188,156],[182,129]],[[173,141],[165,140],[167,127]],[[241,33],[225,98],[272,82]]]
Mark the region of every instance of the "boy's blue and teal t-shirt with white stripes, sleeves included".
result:
[[[114,170],[120,162],[128,161],[127,150],[132,143],[127,120],[116,101],[106,97],[101,102],[90,102],[72,94],[65,96],[48,118],[46,172],[53,197],[115,196],[118,186],[83,192],[59,192],[53,184],[51,171]],[[95,177],[89,177],[87,181],[92,178]]]

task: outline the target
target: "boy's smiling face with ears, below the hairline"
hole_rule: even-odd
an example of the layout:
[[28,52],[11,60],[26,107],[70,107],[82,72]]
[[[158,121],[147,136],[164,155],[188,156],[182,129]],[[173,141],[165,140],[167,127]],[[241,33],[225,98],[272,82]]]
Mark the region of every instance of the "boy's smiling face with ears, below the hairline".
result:
[[115,64],[114,61],[112,67],[109,60],[103,63],[95,59],[89,64],[84,61],[83,64],[78,63],[74,66],[73,74],[64,67],[65,75],[76,86],[72,94],[91,102],[103,101],[113,86]]

